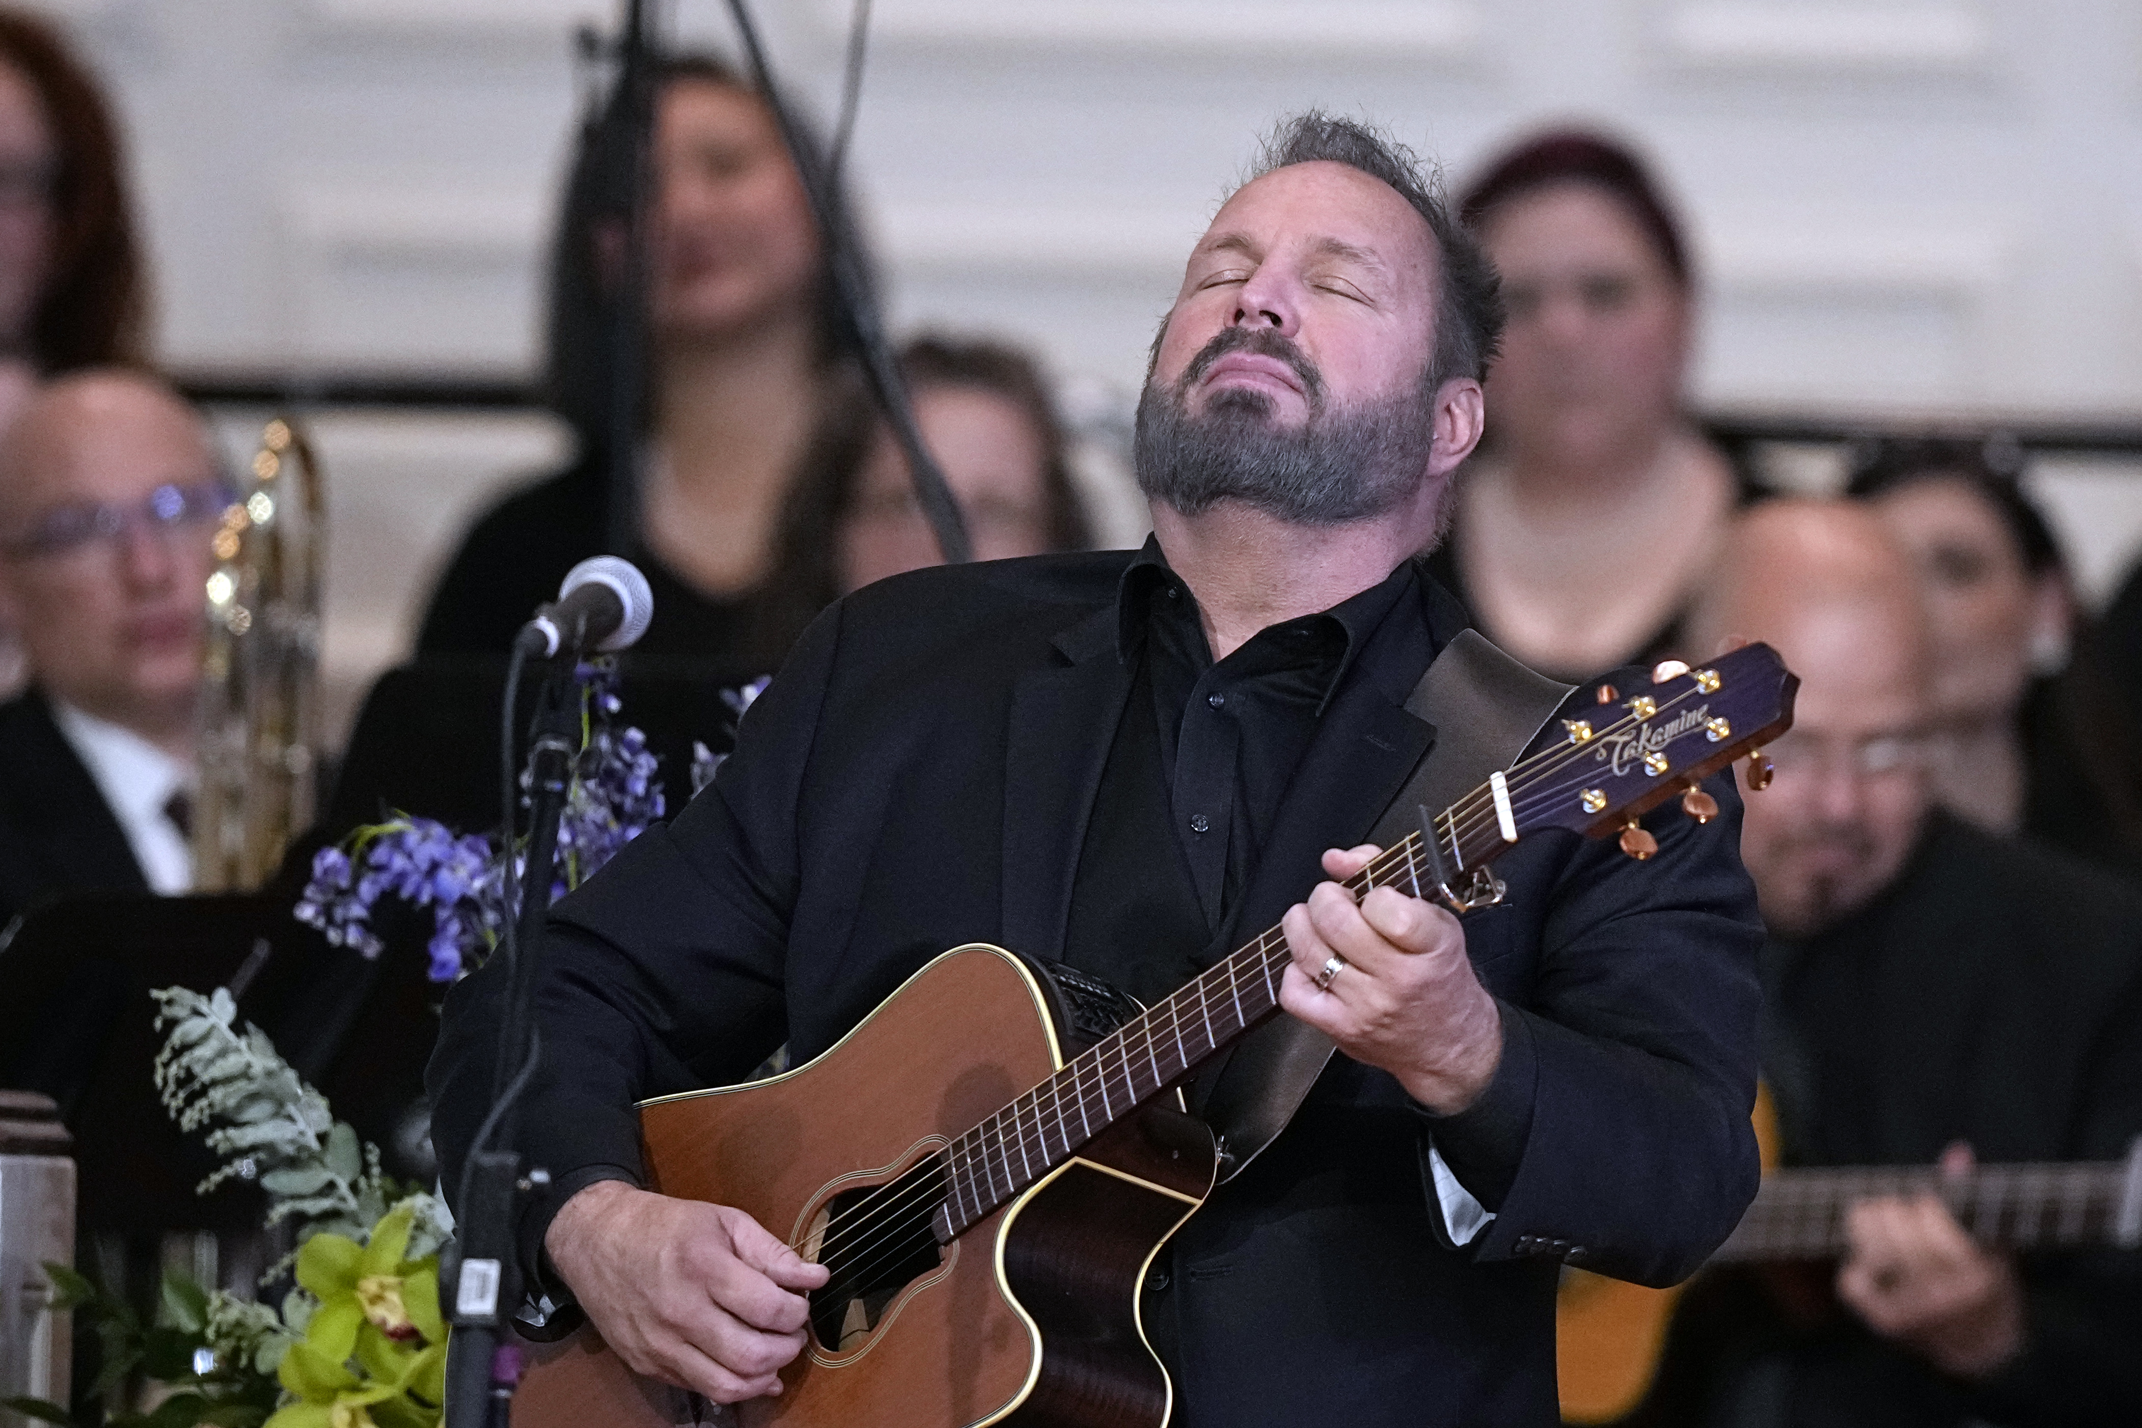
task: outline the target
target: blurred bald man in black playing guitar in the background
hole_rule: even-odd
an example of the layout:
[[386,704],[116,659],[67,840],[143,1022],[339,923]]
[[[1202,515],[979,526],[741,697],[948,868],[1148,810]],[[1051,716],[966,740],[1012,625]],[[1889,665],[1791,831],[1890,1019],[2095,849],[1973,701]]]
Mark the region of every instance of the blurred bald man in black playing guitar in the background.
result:
[[[2142,901],[1932,809],[1906,552],[1859,505],[1761,505],[1690,649],[1726,636],[1801,677],[1741,829],[1786,1163],[2123,1158],[2142,1133]],[[2018,1265],[1932,1197],[1864,1201],[1849,1237],[1831,1282],[1699,1280],[1675,1330],[1688,1377],[1662,1383],[1654,1422],[2142,1422],[2142,1257]]]

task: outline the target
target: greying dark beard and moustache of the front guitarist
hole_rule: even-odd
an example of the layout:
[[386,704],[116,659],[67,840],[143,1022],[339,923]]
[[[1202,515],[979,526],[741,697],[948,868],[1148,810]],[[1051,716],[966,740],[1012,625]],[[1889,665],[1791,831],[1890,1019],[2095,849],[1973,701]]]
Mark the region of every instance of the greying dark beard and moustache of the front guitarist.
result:
[[[1249,388],[1221,388],[1193,413],[1191,388],[1234,351],[1285,362],[1302,379],[1309,417],[1283,426],[1272,398]],[[1427,480],[1433,435],[1427,375],[1390,396],[1332,407],[1322,373],[1289,338],[1272,328],[1223,328],[1172,388],[1148,366],[1137,398],[1137,486],[1185,516],[1242,501],[1289,525],[1373,520]]]

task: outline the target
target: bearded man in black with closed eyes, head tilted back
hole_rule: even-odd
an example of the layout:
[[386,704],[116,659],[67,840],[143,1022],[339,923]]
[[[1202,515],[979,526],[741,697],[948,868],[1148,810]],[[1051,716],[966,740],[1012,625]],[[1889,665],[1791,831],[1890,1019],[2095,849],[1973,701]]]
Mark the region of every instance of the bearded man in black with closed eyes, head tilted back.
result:
[[[1463,923],[1311,891],[1364,865],[1437,739],[1403,700],[1463,614],[1412,557],[1480,435],[1495,328],[1493,272],[1409,154],[1285,124],[1155,345],[1155,540],[848,595],[709,790],[557,906],[533,1285],[643,1372],[775,1392],[825,1272],[636,1188],[636,1096],[814,1058],[957,942],[1152,996],[1283,923],[1281,1004],[1341,1055],[1146,1280],[1176,1422],[1553,1422],[1562,1261],[1669,1282],[1754,1190],[1759,933],[1729,779],[1709,824],[1654,820],[1649,863],[1527,839]],[[448,998],[448,1186],[501,985]]]

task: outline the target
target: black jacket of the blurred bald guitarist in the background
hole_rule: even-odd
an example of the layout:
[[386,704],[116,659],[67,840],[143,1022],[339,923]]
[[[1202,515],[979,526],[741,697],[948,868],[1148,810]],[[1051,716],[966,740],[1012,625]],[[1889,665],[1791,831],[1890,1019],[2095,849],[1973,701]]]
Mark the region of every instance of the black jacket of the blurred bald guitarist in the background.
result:
[[[1765,955],[1789,1160],[2121,1160],[2142,1135],[2142,897],[1945,814],[1868,908]],[[1849,1312],[1782,1315],[1707,1274],[1651,1424],[1962,1428],[2142,1422],[2142,1252],[2022,1259],[2026,1342],[1964,1385]],[[1823,1272],[1827,1276],[1827,1270]]]

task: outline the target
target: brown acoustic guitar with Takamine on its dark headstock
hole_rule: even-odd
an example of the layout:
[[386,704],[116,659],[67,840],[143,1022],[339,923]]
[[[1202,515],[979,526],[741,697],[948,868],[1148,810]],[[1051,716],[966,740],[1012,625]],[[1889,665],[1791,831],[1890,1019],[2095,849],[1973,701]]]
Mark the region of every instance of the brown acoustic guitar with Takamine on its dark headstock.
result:
[[[1542,829],[1649,859],[1645,809],[1679,794],[1716,816],[1699,779],[1741,754],[1767,781],[1754,749],[1791,726],[1797,683],[1748,644],[1583,689],[1345,886],[1484,906],[1493,859]],[[643,1103],[651,1188],[735,1205],[831,1270],[808,1345],[778,1398],[730,1417],[583,1327],[529,1349],[516,1428],[1159,1428],[1174,1389],[1137,1289],[1219,1165],[1174,1092],[1279,1013],[1287,961],[1272,927],[1142,1011],[1071,968],[957,946],[797,1070]]]

